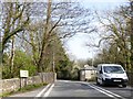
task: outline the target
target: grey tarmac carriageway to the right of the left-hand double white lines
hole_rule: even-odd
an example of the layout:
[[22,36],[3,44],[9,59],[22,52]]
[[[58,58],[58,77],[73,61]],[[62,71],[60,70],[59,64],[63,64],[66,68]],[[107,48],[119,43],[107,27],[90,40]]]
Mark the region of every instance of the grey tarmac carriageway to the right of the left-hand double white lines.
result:
[[132,97],[130,87],[100,87],[93,82],[59,80],[44,97],[126,99]]

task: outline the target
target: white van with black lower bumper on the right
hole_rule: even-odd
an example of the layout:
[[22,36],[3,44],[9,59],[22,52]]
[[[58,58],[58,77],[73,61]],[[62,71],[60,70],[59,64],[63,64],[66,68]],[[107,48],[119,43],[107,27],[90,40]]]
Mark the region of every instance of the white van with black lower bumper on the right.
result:
[[98,65],[96,84],[98,85],[122,85],[126,87],[127,75],[121,65],[100,64]]

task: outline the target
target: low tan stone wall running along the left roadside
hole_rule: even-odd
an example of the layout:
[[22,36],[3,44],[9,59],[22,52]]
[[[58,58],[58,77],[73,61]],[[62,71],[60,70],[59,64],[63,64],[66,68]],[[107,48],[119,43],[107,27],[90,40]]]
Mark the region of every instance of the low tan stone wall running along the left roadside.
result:
[[4,94],[4,92],[14,91],[27,85],[41,84],[41,82],[51,84],[54,81],[53,76],[55,80],[57,75],[53,73],[42,73],[39,74],[38,76],[28,77],[28,78],[2,79],[0,80],[0,84],[2,84],[2,89],[0,88],[0,90],[2,90],[2,94]]

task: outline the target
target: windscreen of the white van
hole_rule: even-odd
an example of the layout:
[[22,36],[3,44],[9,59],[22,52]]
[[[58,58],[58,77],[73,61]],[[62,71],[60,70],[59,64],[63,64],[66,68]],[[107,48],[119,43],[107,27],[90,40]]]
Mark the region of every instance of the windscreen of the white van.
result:
[[103,66],[104,73],[108,74],[123,74],[123,69],[120,66]]

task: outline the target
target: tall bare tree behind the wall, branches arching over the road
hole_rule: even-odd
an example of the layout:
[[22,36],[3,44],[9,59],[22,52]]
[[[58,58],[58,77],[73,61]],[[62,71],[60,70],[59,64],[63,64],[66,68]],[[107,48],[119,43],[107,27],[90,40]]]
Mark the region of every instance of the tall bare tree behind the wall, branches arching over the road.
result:
[[[40,8],[43,12],[40,12]],[[45,50],[51,42],[54,42],[55,35],[59,38],[65,38],[73,36],[75,33],[90,33],[94,31],[94,29],[90,28],[90,11],[80,8],[74,2],[52,2],[52,0],[48,0],[43,4],[32,3],[31,12],[31,16],[35,15],[33,16],[32,24],[25,31],[27,36],[24,36],[24,40],[29,42],[30,36],[29,44],[33,51],[38,52],[38,58],[34,58],[38,72],[41,72],[41,67],[43,67]],[[39,19],[40,16],[42,18],[41,20]],[[38,41],[38,44],[34,40]]]

